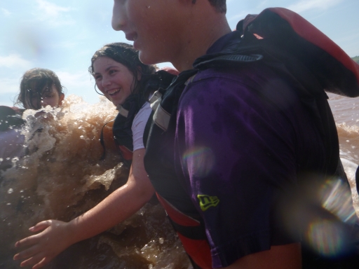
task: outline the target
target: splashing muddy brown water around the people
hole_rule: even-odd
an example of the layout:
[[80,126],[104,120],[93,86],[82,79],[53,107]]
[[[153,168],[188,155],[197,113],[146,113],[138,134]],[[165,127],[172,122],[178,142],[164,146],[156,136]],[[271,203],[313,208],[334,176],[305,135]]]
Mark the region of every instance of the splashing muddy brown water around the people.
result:
[[[329,97],[347,169],[359,163],[359,98]],[[23,132],[32,153],[1,175],[1,269],[20,268],[18,261],[12,261],[13,245],[31,234],[29,227],[44,219],[69,221],[126,182],[128,169],[118,164],[114,151],[108,150],[107,158],[100,161],[100,130],[115,116],[106,99],[90,105],[74,95],[67,97],[61,111],[37,117],[34,111],[25,114],[28,123]],[[354,190],[353,174],[349,178]],[[353,198],[358,204],[356,193]],[[46,268],[188,269],[191,265],[153,198],[127,221],[72,245]]]

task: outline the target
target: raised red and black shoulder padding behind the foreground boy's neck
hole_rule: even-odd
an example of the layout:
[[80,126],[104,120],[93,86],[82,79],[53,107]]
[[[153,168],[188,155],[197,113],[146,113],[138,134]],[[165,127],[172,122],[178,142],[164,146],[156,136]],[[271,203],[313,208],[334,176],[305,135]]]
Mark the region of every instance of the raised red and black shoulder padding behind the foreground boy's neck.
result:
[[299,14],[286,8],[267,8],[238,22],[237,30],[270,40],[278,49],[297,57],[325,90],[359,96],[359,64]]

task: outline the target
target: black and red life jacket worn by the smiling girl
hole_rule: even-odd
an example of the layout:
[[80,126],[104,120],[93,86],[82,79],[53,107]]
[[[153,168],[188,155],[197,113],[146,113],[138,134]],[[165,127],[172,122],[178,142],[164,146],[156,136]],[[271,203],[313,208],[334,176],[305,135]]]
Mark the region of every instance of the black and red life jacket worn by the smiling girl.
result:
[[[155,74],[150,76],[143,92],[150,93],[158,90],[158,88],[167,88],[175,77],[175,74],[173,74],[174,70],[161,69],[156,71]],[[104,160],[106,155],[105,142],[107,142],[107,148],[116,147],[123,163],[128,167],[131,165],[133,158],[133,120],[145,102],[148,102],[146,98],[140,94],[133,93],[126,98],[123,104],[117,106],[118,114],[116,118],[102,127],[100,135],[100,143],[104,149],[102,160]],[[111,135],[109,127],[111,127]]]

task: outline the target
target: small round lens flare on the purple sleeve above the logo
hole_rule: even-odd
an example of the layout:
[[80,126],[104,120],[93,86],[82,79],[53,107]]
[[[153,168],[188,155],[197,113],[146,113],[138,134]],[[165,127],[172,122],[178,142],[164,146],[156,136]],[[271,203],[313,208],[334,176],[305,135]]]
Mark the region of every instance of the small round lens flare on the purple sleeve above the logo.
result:
[[212,150],[206,147],[189,149],[182,156],[184,165],[195,177],[205,177],[215,165],[215,155]]

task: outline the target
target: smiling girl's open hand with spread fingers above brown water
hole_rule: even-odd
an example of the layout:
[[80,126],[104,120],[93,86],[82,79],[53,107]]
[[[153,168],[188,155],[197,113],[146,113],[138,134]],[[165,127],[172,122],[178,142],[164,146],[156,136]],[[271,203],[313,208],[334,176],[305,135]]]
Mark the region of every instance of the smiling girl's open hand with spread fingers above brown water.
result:
[[42,232],[15,243],[15,247],[27,247],[14,256],[14,260],[25,260],[20,264],[21,267],[33,265],[33,269],[41,268],[74,243],[67,222],[41,221],[29,230],[33,233]]

